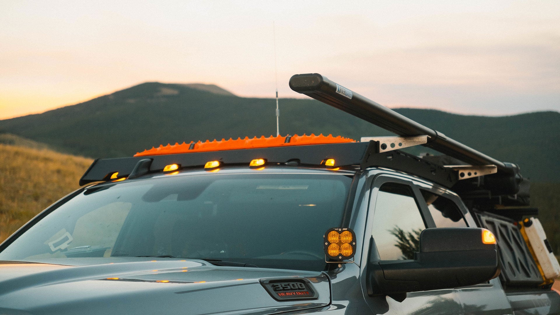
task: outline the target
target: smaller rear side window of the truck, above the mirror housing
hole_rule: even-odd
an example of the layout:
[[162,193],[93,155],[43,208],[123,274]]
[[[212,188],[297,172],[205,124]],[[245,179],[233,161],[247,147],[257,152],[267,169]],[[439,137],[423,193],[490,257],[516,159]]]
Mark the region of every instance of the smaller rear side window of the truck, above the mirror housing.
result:
[[437,228],[463,228],[466,222],[455,202],[420,189]]

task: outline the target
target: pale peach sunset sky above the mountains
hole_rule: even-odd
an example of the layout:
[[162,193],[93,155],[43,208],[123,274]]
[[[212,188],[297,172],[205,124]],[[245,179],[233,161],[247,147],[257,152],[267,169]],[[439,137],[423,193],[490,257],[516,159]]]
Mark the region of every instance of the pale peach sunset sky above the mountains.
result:
[[146,81],[305,98],[310,72],[390,108],[560,111],[559,21],[558,0],[0,0],[0,119]]

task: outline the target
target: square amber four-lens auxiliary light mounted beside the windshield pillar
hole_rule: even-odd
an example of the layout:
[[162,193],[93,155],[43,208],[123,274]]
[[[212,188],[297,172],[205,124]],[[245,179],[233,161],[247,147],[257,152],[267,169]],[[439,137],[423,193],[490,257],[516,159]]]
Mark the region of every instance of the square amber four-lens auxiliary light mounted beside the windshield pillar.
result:
[[323,236],[325,257],[342,262],[349,260],[356,254],[356,233],[348,228],[328,229]]

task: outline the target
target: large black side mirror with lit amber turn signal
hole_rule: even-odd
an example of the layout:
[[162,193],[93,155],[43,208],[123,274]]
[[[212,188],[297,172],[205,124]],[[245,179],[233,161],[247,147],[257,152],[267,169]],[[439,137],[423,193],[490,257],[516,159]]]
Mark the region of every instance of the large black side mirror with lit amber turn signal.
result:
[[487,229],[425,229],[414,260],[375,260],[372,244],[367,265],[370,295],[404,300],[407,292],[475,285],[500,274],[496,238]]

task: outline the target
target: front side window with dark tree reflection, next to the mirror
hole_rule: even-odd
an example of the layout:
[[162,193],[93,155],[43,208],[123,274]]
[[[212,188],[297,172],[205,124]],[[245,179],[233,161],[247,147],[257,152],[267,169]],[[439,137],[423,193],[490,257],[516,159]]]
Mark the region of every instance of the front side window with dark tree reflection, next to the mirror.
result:
[[371,235],[382,260],[411,260],[426,228],[412,189],[385,183],[379,188]]

